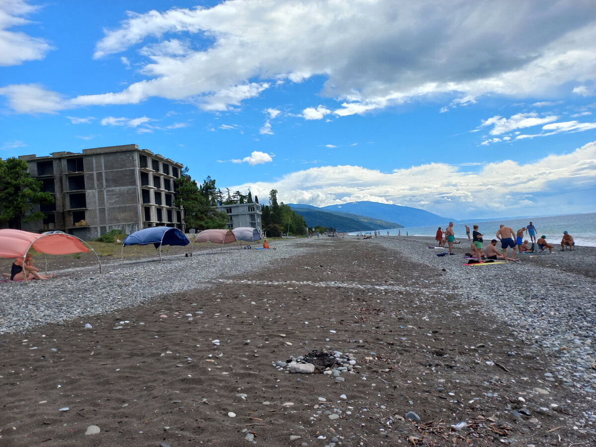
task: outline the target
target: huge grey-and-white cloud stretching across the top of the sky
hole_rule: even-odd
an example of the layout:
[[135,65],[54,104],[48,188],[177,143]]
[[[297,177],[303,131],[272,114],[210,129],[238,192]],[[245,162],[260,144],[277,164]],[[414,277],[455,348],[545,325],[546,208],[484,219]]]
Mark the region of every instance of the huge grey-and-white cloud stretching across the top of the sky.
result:
[[104,30],[94,58],[135,48],[145,79],[68,104],[163,97],[235,110],[272,85],[308,79],[323,79],[319,94],[337,106],[309,107],[306,119],[424,97],[449,98],[447,108],[486,94],[536,97],[570,84],[583,95],[596,73],[594,15],[593,2],[571,0],[246,0],[131,12]]

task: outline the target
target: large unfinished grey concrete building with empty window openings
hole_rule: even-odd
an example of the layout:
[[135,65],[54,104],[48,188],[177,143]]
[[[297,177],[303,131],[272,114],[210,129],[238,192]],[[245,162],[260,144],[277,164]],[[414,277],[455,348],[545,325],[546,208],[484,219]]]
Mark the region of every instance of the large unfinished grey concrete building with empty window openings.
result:
[[111,229],[127,234],[163,225],[185,230],[182,210],[174,206],[180,163],[136,144],[19,158],[55,198],[54,204],[40,207],[43,222],[21,223],[21,229],[58,229],[82,239]]

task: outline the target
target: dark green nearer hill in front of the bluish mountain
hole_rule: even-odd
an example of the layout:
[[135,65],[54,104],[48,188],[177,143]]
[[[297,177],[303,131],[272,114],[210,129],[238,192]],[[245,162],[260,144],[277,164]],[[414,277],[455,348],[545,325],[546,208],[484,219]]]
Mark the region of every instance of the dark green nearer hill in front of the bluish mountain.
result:
[[359,216],[352,213],[327,211],[316,206],[288,203],[288,206],[301,215],[308,226],[328,226],[336,228],[339,232],[373,231],[375,229],[403,228],[395,222],[387,222],[368,216]]

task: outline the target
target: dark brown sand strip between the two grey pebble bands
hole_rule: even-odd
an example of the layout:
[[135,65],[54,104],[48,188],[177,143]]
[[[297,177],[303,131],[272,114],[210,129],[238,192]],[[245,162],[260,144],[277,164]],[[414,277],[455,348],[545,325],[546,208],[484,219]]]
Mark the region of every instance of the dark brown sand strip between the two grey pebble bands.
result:
[[[344,446],[496,446],[506,439],[594,445],[593,437],[572,428],[581,418],[574,402],[582,396],[552,382],[550,395],[533,391],[543,386],[545,353],[508,356],[524,348],[504,323],[469,311],[455,296],[424,294],[426,285],[441,285],[445,272],[429,272],[368,242],[355,246],[337,238],[334,250],[229,278],[232,283],[1,336],[0,445],[252,445],[243,429],[262,446],[323,446],[333,436]],[[119,324],[125,320],[130,323]],[[362,368],[342,374],[342,383],[272,367],[309,349],[352,352]],[[246,393],[246,401],[238,393]],[[538,422],[512,415],[523,408],[520,397]],[[560,406],[540,409],[551,402]],[[69,410],[58,411],[63,407]],[[330,420],[324,411],[334,408],[341,417]],[[228,417],[230,411],[236,417]],[[400,420],[408,411],[421,422]],[[450,424],[460,421],[468,426],[455,432]],[[85,436],[90,425],[101,433]],[[291,434],[302,439],[290,442]],[[326,439],[316,439],[321,435]]]

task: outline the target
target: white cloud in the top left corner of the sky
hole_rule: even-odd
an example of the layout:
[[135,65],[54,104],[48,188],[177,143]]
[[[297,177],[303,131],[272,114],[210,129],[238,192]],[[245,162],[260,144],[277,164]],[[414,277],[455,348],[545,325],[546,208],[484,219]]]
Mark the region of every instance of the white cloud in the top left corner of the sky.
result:
[[29,24],[23,18],[38,10],[27,0],[2,0],[0,2],[0,66],[21,65],[25,61],[43,59],[52,48],[45,39],[12,31],[15,26]]

